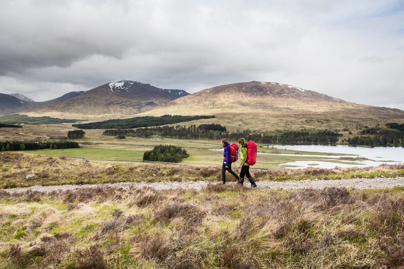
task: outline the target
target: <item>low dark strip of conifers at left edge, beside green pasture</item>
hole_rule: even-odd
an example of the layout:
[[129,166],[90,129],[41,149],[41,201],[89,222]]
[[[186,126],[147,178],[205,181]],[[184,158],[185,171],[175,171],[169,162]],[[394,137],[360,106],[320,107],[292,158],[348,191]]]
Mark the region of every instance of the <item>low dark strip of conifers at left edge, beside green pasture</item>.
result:
[[73,141],[55,142],[27,142],[27,141],[4,141],[0,142],[0,151],[37,150],[37,149],[65,149],[78,148],[79,144]]

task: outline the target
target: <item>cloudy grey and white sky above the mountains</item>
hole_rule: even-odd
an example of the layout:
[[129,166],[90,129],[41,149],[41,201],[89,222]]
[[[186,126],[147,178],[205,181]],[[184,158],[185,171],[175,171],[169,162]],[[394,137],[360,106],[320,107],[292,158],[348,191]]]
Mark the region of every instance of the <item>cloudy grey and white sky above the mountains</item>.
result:
[[0,93],[277,82],[404,110],[404,0],[1,0]]

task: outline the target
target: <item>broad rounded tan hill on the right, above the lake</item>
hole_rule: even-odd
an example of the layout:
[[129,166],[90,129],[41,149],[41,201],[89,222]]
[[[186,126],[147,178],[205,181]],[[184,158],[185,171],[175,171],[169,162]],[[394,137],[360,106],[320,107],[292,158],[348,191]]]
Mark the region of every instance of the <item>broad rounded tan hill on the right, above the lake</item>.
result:
[[404,122],[404,111],[399,109],[356,104],[287,84],[257,81],[202,90],[138,116],[165,114],[215,115],[215,119],[198,124],[219,123],[230,130],[334,130],[348,125]]

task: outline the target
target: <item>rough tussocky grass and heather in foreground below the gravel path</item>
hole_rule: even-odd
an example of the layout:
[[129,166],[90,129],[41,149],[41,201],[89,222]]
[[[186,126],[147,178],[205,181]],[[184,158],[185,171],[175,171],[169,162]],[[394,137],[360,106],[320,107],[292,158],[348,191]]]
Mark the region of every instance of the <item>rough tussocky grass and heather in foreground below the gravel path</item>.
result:
[[400,268],[404,189],[0,191],[0,268]]

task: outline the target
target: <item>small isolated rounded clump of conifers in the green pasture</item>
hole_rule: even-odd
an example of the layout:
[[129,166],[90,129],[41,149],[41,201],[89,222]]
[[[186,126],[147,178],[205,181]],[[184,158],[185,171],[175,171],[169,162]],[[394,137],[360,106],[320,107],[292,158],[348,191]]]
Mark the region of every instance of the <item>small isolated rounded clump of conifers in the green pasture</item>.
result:
[[152,150],[144,152],[143,161],[179,163],[188,156],[188,152],[178,146],[157,145]]

